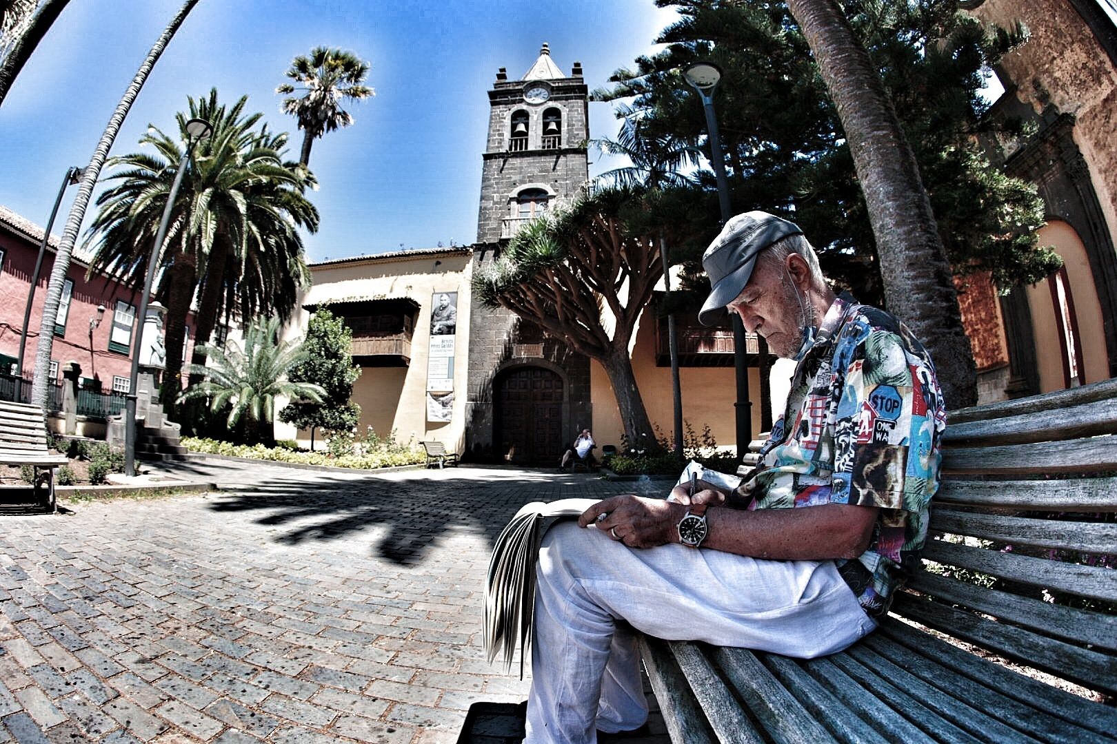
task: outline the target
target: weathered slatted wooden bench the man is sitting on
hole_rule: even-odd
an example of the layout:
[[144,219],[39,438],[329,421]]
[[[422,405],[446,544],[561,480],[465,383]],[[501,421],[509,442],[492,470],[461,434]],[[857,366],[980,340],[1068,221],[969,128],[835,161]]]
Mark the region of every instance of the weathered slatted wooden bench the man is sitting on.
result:
[[952,413],[932,570],[875,632],[813,660],[641,638],[671,741],[1115,741],[1115,433],[1117,379]]

